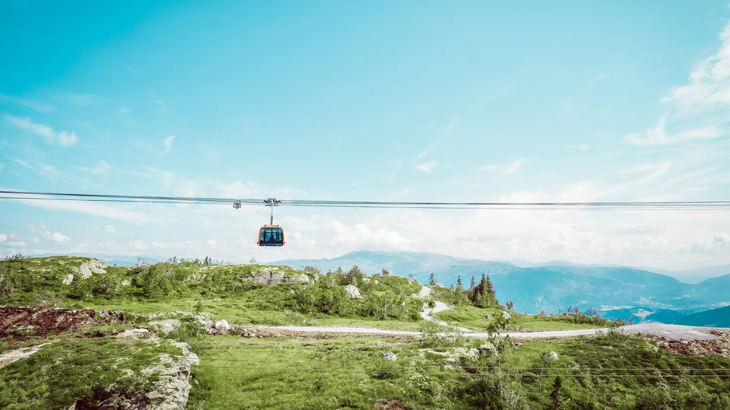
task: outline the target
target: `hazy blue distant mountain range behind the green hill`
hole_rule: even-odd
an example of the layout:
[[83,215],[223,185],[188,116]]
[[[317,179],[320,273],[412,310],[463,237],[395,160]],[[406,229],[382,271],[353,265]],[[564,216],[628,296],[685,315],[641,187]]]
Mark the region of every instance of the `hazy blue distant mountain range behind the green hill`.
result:
[[[730,266],[670,272],[697,279],[726,271],[724,276],[686,283],[659,269],[582,265],[562,260],[510,263],[418,252],[357,251],[334,259],[290,259],[269,264],[295,268],[310,265],[322,271],[337,267],[347,270],[357,265],[368,274],[387,268],[401,276],[412,273],[421,283],[433,271],[437,280],[446,286],[456,284],[458,276],[468,286],[472,276],[478,281],[482,274],[488,274],[500,301],[512,300],[515,309],[529,313],[542,310],[558,313],[558,309],[577,305],[583,309],[592,306],[609,316],[625,314],[622,318],[628,319],[631,309],[692,314],[730,303]],[[665,316],[672,319],[670,315]]]

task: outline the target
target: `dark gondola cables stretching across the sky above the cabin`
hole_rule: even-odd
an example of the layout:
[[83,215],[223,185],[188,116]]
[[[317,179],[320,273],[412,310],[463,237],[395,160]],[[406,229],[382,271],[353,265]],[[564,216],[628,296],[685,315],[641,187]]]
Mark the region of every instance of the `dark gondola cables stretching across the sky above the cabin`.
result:
[[[49,193],[0,190],[0,199],[136,202],[156,204],[240,204],[268,206],[264,199],[204,198],[183,196],[129,196],[86,193]],[[642,202],[404,202],[404,201],[323,201],[281,200],[278,206],[339,207],[339,208],[401,208],[401,209],[730,209],[730,201],[642,201]]]

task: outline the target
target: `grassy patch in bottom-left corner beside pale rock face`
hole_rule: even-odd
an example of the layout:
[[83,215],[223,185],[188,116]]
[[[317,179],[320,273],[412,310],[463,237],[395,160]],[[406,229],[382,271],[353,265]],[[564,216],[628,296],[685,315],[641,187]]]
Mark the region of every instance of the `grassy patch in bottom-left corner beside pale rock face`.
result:
[[[3,350],[23,346],[6,345]],[[129,395],[150,391],[158,380],[154,365],[161,363],[162,353],[182,352],[166,340],[66,337],[0,368],[0,408],[66,409],[77,398],[91,400],[110,388]]]

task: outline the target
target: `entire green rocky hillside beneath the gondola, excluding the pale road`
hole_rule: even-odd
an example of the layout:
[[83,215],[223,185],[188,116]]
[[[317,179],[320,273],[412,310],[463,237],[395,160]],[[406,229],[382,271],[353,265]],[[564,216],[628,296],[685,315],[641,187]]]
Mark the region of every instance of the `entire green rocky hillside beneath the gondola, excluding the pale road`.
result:
[[[515,274],[509,264],[494,267]],[[590,314],[505,312],[486,294],[472,301],[469,293],[356,267],[323,274],[208,261],[110,267],[78,256],[23,258],[0,261],[0,290],[0,353],[9,357],[0,359],[0,406],[7,409],[546,409],[554,397],[566,409],[730,405],[721,379],[730,374],[718,370],[730,368],[730,333],[682,342],[625,334]],[[426,299],[412,295],[423,290]],[[477,336],[485,339],[423,320],[423,304],[436,302],[450,305],[437,320],[486,332]],[[327,325],[420,333],[327,333]],[[499,336],[596,327],[608,330],[577,339]],[[602,377],[601,369],[627,376]]]

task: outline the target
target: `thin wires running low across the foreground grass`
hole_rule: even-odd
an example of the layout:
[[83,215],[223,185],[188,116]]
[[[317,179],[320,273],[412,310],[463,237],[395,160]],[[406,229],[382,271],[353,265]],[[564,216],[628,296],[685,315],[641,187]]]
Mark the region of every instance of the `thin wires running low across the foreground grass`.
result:
[[[113,365],[120,364],[134,364],[134,365],[164,365],[165,363],[140,363],[140,362],[119,362],[119,361],[104,361],[104,360],[79,360],[79,359],[61,359],[54,357],[13,357],[13,356],[0,356],[2,358],[18,359],[18,360],[47,360],[47,361],[64,361],[74,363],[106,363]],[[172,358],[172,357],[170,357]],[[498,374],[474,374],[474,373],[439,373],[439,372],[418,372],[418,371],[388,371],[383,370],[339,370],[339,369],[326,369],[326,368],[262,368],[262,367],[242,367],[242,366],[217,366],[217,365],[193,365],[184,357],[182,360],[188,362],[193,368],[228,368],[228,369],[241,369],[241,370],[266,370],[266,371],[311,371],[318,373],[360,373],[360,374],[413,374],[413,375],[438,375],[438,376],[496,376]],[[499,368],[495,368],[499,370]],[[571,370],[571,369],[563,369]],[[499,374],[499,376],[532,376],[532,377],[550,377],[550,376],[563,376],[563,377],[606,377],[606,378],[618,378],[618,377],[677,377],[677,378],[689,378],[689,377],[715,377],[715,378],[730,378],[726,375],[718,374],[667,374],[667,375],[651,375],[651,374]]]

